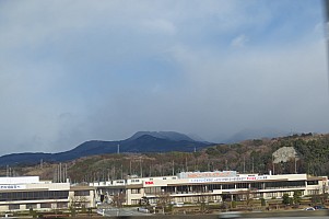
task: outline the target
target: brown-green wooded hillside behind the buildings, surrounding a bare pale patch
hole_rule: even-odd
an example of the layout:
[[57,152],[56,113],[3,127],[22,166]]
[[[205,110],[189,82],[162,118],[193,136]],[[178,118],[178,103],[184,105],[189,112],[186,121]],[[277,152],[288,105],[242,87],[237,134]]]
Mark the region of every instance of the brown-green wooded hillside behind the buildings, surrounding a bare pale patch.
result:
[[[272,153],[294,147],[298,160],[273,164]],[[218,145],[196,152],[102,154],[67,163],[40,163],[13,166],[1,175],[39,175],[43,180],[73,183],[125,178],[128,175],[160,176],[183,171],[235,170],[239,173],[308,173],[329,175],[329,135],[302,134],[273,139],[252,139],[233,145]]]

